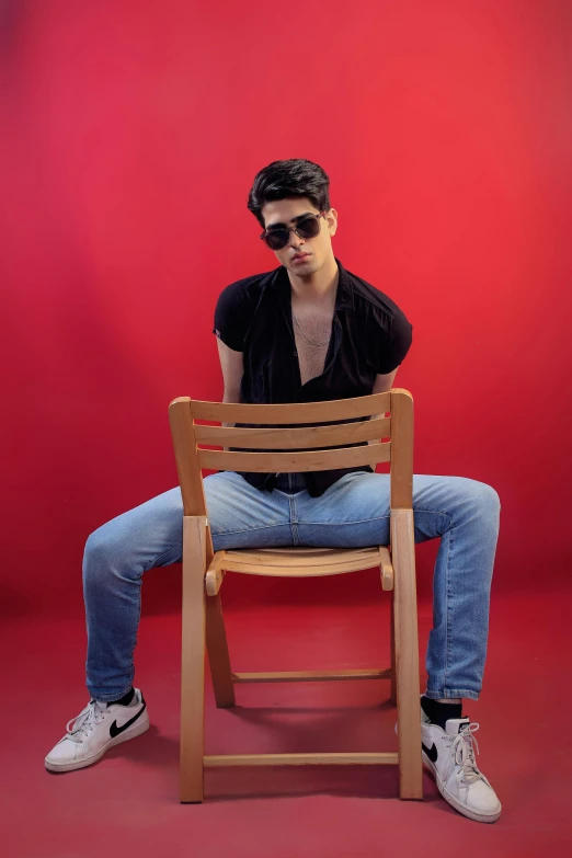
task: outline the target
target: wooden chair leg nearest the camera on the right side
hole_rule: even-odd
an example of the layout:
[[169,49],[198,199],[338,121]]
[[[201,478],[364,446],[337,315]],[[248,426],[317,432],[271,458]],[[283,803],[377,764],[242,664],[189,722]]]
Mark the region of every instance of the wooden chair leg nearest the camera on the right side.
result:
[[399,796],[422,799],[419,634],[413,511],[391,511],[398,699]]

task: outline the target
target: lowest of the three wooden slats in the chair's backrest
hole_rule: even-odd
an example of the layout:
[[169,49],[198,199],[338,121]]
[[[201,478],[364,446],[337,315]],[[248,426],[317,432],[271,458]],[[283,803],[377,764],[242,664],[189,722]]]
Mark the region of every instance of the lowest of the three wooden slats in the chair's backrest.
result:
[[230,450],[198,450],[202,468],[222,471],[262,471],[291,473],[352,468],[389,461],[391,442],[368,444],[367,447],[343,447],[338,450],[309,453],[233,453]]

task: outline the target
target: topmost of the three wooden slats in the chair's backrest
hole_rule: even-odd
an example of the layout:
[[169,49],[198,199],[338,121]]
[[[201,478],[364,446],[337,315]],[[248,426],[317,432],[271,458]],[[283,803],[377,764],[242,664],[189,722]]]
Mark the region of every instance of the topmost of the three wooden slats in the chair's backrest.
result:
[[230,402],[202,402],[191,400],[194,420],[214,420],[221,423],[328,423],[331,420],[350,420],[382,414],[391,409],[391,393],[373,393],[354,399],[334,399],[331,402],[301,402],[279,405],[249,405]]

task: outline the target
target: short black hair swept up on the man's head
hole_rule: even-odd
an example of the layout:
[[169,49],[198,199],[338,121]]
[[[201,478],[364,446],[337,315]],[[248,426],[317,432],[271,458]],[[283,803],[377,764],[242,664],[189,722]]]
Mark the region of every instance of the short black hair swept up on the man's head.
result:
[[249,210],[264,227],[262,209],[273,199],[306,196],[319,211],[329,211],[330,179],[324,170],[305,158],[273,161],[254,176],[249,194]]

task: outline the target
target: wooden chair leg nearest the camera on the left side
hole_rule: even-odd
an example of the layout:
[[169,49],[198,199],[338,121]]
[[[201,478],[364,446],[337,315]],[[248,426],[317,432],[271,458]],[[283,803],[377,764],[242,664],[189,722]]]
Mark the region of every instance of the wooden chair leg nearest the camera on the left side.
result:
[[203,801],[205,723],[205,516],[183,517],[181,802]]

